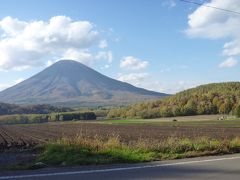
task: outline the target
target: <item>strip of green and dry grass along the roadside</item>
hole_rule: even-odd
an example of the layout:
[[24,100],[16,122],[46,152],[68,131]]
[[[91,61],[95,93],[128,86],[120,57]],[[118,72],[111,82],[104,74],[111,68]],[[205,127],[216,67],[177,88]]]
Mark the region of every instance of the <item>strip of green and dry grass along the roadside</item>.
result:
[[121,142],[119,137],[101,139],[77,136],[48,143],[37,161],[50,166],[137,163],[203,155],[240,152],[240,138],[195,140],[169,138],[162,142],[139,139]]

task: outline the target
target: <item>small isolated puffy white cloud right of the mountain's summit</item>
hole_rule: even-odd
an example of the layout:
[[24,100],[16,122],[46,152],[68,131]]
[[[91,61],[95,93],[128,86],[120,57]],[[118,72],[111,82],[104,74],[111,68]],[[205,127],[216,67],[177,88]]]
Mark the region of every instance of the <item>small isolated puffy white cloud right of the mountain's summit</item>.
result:
[[143,61],[133,56],[126,56],[120,62],[121,68],[126,68],[130,70],[146,69],[148,65],[148,61]]

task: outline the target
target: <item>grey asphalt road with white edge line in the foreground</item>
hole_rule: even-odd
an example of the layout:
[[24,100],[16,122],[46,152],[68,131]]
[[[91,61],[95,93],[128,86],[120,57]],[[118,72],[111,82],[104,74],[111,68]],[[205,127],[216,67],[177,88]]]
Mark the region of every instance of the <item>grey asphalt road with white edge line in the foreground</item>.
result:
[[240,154],[133,165],[81,166],[35,171],[1,172],[1,179],[19,180],[239,180]]

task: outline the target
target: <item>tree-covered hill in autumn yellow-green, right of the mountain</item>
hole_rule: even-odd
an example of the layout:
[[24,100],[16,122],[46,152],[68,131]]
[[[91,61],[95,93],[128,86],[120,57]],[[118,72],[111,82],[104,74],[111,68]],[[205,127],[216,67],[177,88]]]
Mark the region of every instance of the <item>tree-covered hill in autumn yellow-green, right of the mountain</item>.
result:
[[229,113],[240,115],[240,82],[201,85],[162,100],[112,109],[108,116],[158,118]]

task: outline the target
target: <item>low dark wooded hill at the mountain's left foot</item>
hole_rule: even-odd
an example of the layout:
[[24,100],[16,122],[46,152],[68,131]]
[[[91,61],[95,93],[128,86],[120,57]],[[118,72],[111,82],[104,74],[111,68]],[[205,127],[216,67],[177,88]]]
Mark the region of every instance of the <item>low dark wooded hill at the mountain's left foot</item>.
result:
[[49,114],[52,112],[67,112],[71,111],[69,108],[59,108],[50,105],[28,105],[18,106],[16,104],[8,104],[0,102],[0,115],[11,114]]

